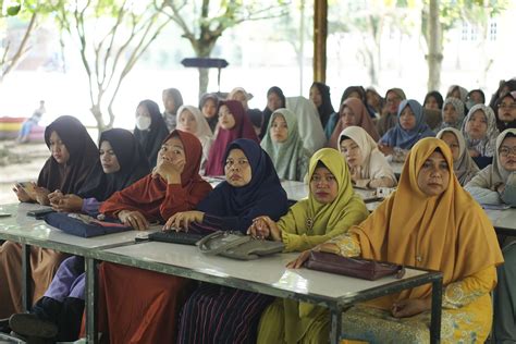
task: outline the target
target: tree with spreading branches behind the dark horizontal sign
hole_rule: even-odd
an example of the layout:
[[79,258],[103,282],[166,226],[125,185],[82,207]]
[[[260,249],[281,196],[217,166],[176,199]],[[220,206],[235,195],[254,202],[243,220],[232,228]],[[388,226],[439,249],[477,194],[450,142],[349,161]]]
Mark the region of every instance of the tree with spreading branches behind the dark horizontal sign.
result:
[[[183,32],[197,58],[209,58],[219,37],[230,27],[245,21],[258,21],[286,14],[286,2],[274,3],[242,0],[155,0],[169,19]],[[208,88],[208,70],[199,69],[199,95]]]

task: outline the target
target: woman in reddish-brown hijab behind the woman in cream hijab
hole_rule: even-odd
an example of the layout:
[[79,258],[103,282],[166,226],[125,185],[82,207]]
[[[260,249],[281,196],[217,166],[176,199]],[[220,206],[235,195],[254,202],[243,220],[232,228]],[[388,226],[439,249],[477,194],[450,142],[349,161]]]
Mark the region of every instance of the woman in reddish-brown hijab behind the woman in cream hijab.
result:
[[336,123],[335,130],[333,131],[330,140],[328,142],[329,147],[337,149],[337,139],[341,132],[352,125],[363,127],[374,142],[380,139],[380,135],[378,135],[374,123],[372,123],[372,120],[367,113],[367,109],[360,99],[348,98],[344,100],[344,102],[341,105],[341,109],[339,110],[339,122]]

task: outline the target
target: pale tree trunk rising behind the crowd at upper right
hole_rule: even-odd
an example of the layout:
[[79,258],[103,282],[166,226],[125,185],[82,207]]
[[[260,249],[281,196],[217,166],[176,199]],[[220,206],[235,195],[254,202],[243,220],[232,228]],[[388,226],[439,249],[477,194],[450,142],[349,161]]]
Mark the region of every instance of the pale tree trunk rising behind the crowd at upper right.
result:
[[428,90],[438,90],[441,86],[441,64],[443,60],[443,36],[439,22],[439,0],[430,0],[427,32],[428,45]]

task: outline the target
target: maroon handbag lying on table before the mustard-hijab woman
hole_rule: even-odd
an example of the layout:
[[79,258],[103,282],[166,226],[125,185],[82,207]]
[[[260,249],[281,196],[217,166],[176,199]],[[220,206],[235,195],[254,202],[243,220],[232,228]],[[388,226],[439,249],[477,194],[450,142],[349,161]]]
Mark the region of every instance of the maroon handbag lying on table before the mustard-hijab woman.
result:
[[352,278],[376,281],[386,275],[403,278],[405,268],[391,262],[376,261],[363,258],[347,258],[334,254],[310,251],[304,266],[311,270],[348,275]]

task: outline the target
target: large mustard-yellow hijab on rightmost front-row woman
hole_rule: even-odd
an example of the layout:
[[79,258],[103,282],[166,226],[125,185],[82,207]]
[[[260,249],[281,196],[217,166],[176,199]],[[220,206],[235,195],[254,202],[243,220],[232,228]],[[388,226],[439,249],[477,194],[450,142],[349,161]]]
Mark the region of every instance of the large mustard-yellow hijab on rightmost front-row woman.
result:
[[[450,183],[444,193],[429,197],[419,189],[417,176],[435,149],[447,162]],[[442,271],[444,285],[503,262],[491,221],[458,183],[447,145],[434,137],[413,147],[396,192],[351,232],[358,235],[364,258]],[[430,292],[428,284],[373,304],[390,308],[395,300]]]

